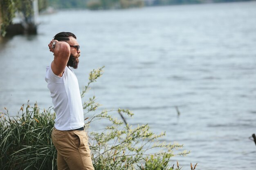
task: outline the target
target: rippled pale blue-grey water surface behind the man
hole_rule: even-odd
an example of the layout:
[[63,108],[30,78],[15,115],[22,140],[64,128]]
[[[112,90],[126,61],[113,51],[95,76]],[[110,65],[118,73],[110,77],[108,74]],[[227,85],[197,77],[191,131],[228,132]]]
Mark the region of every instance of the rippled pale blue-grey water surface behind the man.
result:
[[16,115],[27,100],[52,106],[47,44],[70,31],[81,46],[81,90],[88,73],[105,66],[85,96],[97,97],[99,111],[128,108],[129,124],[166,131],[162,140],[191,151],[173,157],[184,170],[190,162],[198,170],[256,169],[256,2],[58,11],[39,22],[38,35],[0,44],[0,112]]

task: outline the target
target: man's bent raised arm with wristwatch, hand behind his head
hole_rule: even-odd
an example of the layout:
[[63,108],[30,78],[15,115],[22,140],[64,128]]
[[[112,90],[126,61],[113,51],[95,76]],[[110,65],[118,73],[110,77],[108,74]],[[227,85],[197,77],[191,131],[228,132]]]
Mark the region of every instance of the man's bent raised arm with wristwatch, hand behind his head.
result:
[[54,53],[54,60],[51,64],[52,71],[55,75],[62,77],[70,57],[70,45],[64,41],[52,40],[48,46]]

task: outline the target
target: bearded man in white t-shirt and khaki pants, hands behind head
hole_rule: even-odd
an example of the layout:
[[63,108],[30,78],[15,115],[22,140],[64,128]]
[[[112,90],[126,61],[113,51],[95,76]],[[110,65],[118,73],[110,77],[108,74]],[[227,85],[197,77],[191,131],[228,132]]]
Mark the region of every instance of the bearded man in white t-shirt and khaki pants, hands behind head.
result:
[[57,150],[58,170],[94,170],[79,85],[70,68],[78,67],[80,46],[70,32],[56,34],[48,46],[54,60],[46,67],[45,81],[56,113],[52,141]]

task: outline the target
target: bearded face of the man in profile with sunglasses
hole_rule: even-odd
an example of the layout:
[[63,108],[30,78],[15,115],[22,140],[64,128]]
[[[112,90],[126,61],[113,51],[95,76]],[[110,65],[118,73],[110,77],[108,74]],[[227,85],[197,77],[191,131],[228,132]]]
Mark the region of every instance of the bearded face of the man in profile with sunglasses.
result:
[[[70,40],[67,41],[67,43],[70,44],[71,46],[79,45],[74,37],[70,37]],[[78,63],[79,63],[78,57],[80,56],[80,52],[81,52],[80,49],[77,51],[77,47],[70,47],[70,58],[67,62],[68,66],[71,66],[75,69],[78,67]]]

